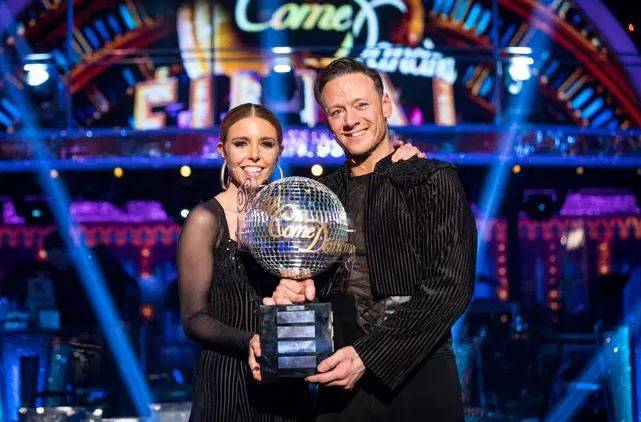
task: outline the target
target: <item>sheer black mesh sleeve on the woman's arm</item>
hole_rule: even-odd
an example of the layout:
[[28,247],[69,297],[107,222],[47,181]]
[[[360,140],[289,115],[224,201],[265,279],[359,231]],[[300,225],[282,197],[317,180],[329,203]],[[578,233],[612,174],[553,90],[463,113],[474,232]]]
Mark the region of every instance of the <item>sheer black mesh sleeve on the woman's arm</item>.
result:
[[185,221],[178,242],[180,314],[191,340],[243,353],[253,333],[223,324],[209,313],[213,251],[221,240],[222,224],[212,204],[198,205]]

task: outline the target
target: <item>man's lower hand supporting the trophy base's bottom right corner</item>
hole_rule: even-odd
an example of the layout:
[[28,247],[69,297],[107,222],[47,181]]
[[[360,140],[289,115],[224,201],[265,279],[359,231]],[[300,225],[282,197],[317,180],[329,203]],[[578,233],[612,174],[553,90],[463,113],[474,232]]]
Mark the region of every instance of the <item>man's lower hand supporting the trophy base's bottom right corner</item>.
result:
[[347,346],[318,364],[318,372],[320,374],[310,375],[305,381],[351,390],[365,373],[365,365],[356,350]]

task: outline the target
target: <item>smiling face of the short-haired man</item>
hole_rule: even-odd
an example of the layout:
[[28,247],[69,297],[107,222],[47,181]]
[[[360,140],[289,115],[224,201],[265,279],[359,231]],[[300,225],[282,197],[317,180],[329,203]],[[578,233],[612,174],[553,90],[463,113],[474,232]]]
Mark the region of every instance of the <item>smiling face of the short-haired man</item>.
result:
[[381,98],[374,81],[363,73],[349,73],[329,81],[322,92],[330,130],[350,157],[366,157],[387,138],[392,106]]

